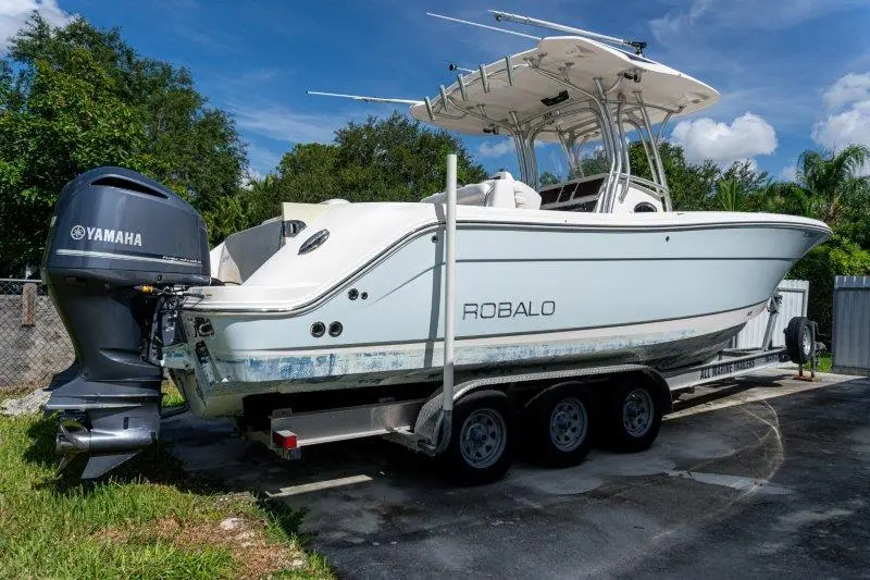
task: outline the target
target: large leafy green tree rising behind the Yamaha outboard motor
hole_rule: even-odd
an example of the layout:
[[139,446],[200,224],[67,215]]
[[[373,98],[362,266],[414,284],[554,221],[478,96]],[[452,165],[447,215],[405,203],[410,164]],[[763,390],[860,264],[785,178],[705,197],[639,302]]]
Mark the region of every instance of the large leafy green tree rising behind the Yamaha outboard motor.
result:
[[165,183],[208,219],[247,170],[232,119],[184,69],[144,58],[117,30],[35,14],[0,60],[0,273],[37,263],[63,185],[98,165]]

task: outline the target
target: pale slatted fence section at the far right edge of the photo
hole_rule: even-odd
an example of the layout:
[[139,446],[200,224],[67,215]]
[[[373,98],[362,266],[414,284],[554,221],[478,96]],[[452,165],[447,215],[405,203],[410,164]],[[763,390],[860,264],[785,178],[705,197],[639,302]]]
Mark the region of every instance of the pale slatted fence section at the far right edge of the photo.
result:
[[832,370],[870,374],[870,276],[834,279]]

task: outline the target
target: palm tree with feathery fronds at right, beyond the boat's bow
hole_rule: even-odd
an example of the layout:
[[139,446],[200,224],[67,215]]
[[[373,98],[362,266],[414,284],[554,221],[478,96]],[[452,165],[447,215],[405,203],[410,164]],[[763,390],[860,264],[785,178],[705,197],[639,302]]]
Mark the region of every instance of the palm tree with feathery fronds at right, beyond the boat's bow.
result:
[[816,218],[836,227],[849,206],[870,197],[870,182],[862,175],[868,161],[870,149],[863,145],[834,152],[805,151],[798,159],[795,181],[768,186],[761,205],[767,210]]

